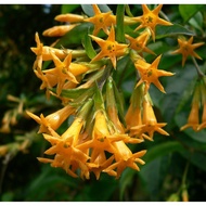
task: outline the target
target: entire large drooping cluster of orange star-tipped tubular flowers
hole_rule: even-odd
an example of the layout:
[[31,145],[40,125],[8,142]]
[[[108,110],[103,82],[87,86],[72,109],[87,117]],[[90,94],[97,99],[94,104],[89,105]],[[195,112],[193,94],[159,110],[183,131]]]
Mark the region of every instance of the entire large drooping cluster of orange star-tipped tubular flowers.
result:
[[[27,114],[39,125],[39,132],[51,143],[44,153],[54,155],[52,159],[39,157],[42,163],[61,167],[72,177],[89,179],[93,172],[96,179],[101,172],[119,178],[125,168],[140,170],[146,150],[132,152],[129,144],[139,144],[145,139],[153,141],[154,132],[169,136],[157,123],[150,98],[150,86],[154,83],[162,92],[164,87],[158,80],[162,76],[172,76],[170,72],[158,69],[162,55],[153,63],[144,59],[144,52],[155,54],[146,46],[155,40],[157,24],[171,25],[158,17],[162,5],[150,11],[142,5],[140,17],[125,16],[124,23],[140,23],[141,33],[136,37],[125,34],[125,42],[118,42],[116,16],[112,12],[102,13],[98,5],[92,5],[94,15],[61,14],[56,21],[69,23],[47,29],[46,36],[64,36],[82,24],[90,23],[92,35],[87,34],[80,49],[57,49],[43,46],[38,34],[35,39],[37,55],[34,72],[42,81],[40,89],[46,89],[47,96],[60,99],[63,108],[48,116]],[[99,33],[104,36],[100,37]],[[93,41],[92,41],[93,40]],[[69,41],[69,40],[68,40]],[[96,42],[98,46],[93,46]],[[128,55],[137,69],[138,83],[133,89],[128,110],[124,108],[121,95],[113,74],[118,69],[118,61]],[[44,68],[43,63],[51,61],[52,68]],[[59,128],[69,118],[68,128],[60,133]]]

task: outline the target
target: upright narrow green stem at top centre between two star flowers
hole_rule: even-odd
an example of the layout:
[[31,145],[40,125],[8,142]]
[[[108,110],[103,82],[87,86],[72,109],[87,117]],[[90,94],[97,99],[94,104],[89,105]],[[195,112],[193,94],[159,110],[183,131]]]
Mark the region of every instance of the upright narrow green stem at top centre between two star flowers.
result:
[[116,20],[117,20],[117,28],[116,28],[116,41],[120,43],[125,43],[125,29],[124,29],[124,16],[125,16],[125,5],[118,4],[117,5],[117,13],[116,13]]

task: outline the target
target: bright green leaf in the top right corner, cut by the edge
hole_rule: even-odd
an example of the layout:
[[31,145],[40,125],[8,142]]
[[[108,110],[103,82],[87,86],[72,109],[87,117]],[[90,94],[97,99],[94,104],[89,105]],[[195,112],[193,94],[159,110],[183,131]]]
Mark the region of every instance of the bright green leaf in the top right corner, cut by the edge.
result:
[[188,22],[196,12],[205,9],[204,4],[181,4],[179,5],[179,12],[184,21]]

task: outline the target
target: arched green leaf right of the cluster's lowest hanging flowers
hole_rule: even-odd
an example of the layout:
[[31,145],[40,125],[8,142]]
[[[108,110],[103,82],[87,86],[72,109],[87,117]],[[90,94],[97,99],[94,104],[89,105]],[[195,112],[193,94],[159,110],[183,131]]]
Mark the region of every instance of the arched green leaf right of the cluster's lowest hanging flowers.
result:
[[143,156],[143,159],[146,164],[158,158],[159,156],[164,156],[177,151],[182,151],[183,146],[177,141],[168,141],[164,143],[159,143],[153,147],[151,147],[146,154]]

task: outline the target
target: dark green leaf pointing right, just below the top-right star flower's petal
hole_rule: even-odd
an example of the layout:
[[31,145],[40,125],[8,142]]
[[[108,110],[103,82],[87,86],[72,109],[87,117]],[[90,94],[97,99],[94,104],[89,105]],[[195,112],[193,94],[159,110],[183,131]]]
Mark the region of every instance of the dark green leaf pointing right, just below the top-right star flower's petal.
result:
[[184,28],[183,26],[179,24],[173,24],[171,26],[162,26],[157,25],[156,27],[156,39],[160,39],[164,37],[171,37],[171,36],[177,36],[177,35],[189,35],[193,36],[194,33],[191,30]]

